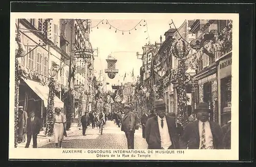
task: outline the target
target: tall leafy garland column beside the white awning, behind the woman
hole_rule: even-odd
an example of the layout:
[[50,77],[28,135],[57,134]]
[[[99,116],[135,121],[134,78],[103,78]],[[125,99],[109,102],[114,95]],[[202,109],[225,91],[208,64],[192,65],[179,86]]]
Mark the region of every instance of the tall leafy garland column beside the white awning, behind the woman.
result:
[[47,120],[46,120],[46,136],[53,136],[54,126],[54,96],[55,96],[55,85],[53,77],[50,78],[49,82],[49,98],[47,106]]

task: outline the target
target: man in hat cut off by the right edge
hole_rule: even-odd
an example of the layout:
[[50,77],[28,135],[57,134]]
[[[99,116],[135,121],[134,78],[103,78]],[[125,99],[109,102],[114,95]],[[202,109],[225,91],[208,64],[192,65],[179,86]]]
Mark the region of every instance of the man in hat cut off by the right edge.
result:
[[231,149],[231,107],[224,107],[221,117],[227,120],[226,124],[221,127],[223,147],[224,149]]

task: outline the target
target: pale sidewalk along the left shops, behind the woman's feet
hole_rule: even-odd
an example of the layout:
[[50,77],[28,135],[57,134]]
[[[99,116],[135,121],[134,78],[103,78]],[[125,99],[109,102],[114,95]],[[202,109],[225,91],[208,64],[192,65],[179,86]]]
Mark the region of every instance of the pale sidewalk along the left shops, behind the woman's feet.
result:
[[[44,127],[43,129],[44,130],[40,131],[40,133],[37,135],[37,147],[40,147],[42,145],[45,145],[45,144],[47,144],[49,142],[53,142],[54,141],[54,136],[47,137],[45,135],[46,128]],[[69,136],[70,134],[72,134],[76,130],[80,130],[80,128],[77,127],[77,123],[71,125],[69,131],[67,131],[67,135]],[[25,148],[26,143],[27,143],[27,138],[28,137],[26,135],[26,141],[24,143],[17,144],[17,148]],[[33,138],[31,138],[31,142],[30,142],[29,148],[33,148]]]

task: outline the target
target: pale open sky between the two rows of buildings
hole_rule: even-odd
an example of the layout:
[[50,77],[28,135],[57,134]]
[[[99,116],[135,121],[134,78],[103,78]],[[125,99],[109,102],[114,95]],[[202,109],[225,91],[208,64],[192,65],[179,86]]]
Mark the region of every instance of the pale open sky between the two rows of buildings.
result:
[[[140,22],[141,19],[142,21]],[[135,78],[137,79],[142,61],[137,59],[136,52],[138,51],[142,54],[142,46],[146,43],[148,44],[148,42],[151,44],[160,42],[160,35],[162,36],[162,41],[164,41],[164,33],[169,30],[169,23],[172,22],[171,19],[173,19],[177,28],[185,20],[165,17],[163,19],[145,19],[144,21],[143,18],[138,17],[138,19],[125,20],[104,19],[102,24],[99,23],[102,19],[92,19],[91,27],[95,27],[90,32],[90,41],[93,49],[98,48],[98,57],[95,57],[94,61],[94,71],[97,79],[99,79],[99,71],[102,70],[101,80],[103,80],[103,76],[105,76],[105,83],[110,83],[110,85],[106,86],[107,90],[112,90],[111,85],[114,84],[117,85],[118,83],[121,84],[121,82],[124,84],[125,82],[135,81],[131,76],[133,69]],[[106,24],[106,20],[108,20],[108,24]],[[141,26],[138,22],[141,23]],[[96,26],[97,24],[98,26]],[[138,25],[136,26],[136,24]],[[145,24],[147,24],[147,27]],[[123,32],[122,34],[122,31],[118,30],[115,33],[116,29],[113,26],[122,31],[131,30],[136,26],[137,30],[134,29],[130,31],[131,34],[129,34],[129,32]],[[104,69],[108,66],[106,58],[109,54],[117,59],[116,69],[118,69],[118,74],[116,74],[114,79],[110,79],[108,75],[104,73]],[[123,79],[125,72],[126,78]]]

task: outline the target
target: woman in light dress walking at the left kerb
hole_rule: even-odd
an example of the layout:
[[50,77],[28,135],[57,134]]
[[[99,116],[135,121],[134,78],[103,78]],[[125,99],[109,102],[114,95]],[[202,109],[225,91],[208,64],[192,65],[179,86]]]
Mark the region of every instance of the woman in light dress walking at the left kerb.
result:
[[56,148],[62,148],[63,132],[66,128],[66,116],[60,113],[60,108],[55,108],[54,113],[54,140]]

